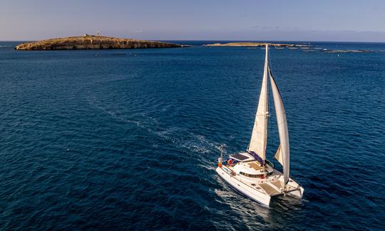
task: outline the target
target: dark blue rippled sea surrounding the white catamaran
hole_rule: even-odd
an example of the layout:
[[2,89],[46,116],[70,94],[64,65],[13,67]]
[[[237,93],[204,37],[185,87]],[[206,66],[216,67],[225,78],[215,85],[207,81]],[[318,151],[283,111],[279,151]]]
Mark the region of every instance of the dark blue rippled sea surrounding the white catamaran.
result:
[[305,191],[262,207],[215,168],[220,145],[247,148],[265,51],[178,42],[193,46],[0,41],[0,230],[384,230],[385,43],[270,49]]

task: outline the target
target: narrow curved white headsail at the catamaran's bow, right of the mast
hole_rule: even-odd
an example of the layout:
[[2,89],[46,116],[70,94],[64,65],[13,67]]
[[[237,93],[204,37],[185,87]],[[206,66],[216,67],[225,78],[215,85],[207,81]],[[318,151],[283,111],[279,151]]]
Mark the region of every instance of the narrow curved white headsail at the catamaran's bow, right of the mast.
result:
[[270,83],[272,86],[272,93],[274,98],[275,114],[277,116],[277,127],[279,133],[279,147],[275,158],[283,166],[284,184],[286,185],[289,180],[289,168],[290,168],[290,152],[289,152],[289,132],[287,130],[286,113],[284,111],[284,105],[281,98],[281,93],[277,88],[277,84],[274,81],[271,71],[269,70]]

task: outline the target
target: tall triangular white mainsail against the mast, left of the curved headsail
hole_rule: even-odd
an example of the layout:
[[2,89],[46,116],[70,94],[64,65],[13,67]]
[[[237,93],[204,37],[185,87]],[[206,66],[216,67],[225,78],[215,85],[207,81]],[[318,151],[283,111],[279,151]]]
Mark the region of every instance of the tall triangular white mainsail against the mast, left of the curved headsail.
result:
[[267,75],[269,74],[268,69],[268,46],[266,44],[265,71],[263,72],[260,101],[258,103],[257,114],[255,115],[254,128],[252,128],[252,136],[249,148],[247,148],[247,150],[257,153],[262,161],[266,160],[267,145],[267,116],[269,114],[269,106],[267,104]]

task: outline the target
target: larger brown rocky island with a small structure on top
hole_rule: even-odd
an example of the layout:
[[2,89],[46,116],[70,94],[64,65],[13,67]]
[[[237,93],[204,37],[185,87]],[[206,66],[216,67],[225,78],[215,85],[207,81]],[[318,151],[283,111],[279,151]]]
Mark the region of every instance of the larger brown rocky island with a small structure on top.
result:
[[59,39],[46,39],[29,43],[21,43],[16,50],[76,50],[76,49],[132,49],[132,48],[174,48],[183,45],[160,41],[138,39],[119,39],[107,36],[75,36]]

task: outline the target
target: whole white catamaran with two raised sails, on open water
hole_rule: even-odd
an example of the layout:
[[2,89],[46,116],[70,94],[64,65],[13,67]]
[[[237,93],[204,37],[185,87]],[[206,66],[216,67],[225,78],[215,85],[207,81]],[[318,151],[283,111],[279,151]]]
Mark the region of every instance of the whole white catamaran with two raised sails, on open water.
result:
[[[268,44],[266,44],[265,50],[265,71],[249,147],[246,152],[230,155],[225,161],[222,160],[221,152],[216,171],[223,180],[239,193],[260,202],[262,205],[269,206],[270,199],[277,195],[302,198],[304,188],[290,178],[289,133],[286,113],[281,94],[270,71]],[[274,165],[266,158],[267,122],[270,116],[267,88],[269,80],[274,99],[280,143],[274,158],[282,165],[283,173],[274,169]]]

